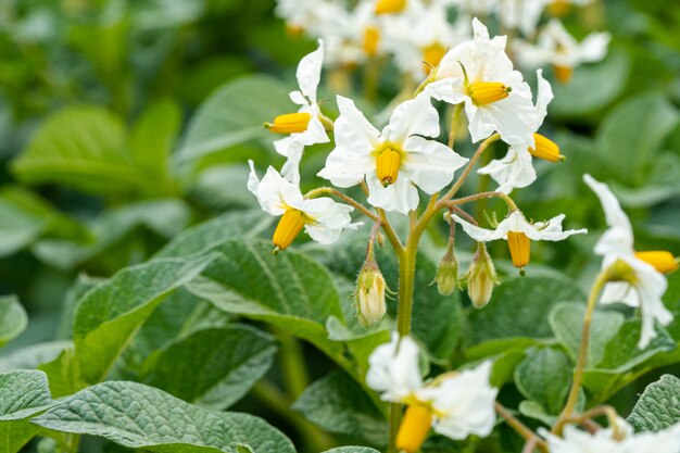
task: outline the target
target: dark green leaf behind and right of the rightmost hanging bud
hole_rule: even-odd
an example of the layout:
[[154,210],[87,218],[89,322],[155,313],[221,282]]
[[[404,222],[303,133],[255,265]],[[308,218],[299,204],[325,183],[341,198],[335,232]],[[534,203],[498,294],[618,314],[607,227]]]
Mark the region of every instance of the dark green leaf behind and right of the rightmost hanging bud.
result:
[[550,312],[559,302],[583,300],[576,282],[553,277],[516,277],[493,290],[489,305],[468,316],[467,337],[473,344],[486,340],[550,338]]

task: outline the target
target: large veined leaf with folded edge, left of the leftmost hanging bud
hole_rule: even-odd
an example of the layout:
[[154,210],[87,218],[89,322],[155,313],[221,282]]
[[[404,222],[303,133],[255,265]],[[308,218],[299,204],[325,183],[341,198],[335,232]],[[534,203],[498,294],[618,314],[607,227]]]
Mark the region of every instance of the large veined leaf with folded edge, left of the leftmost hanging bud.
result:
[[292,251],[272,254],[272,244],[229,240],[211,249],[217,259],[187,288],[227,313],[265,320],[307,340],[331,358],[342,345],[328,339],[329,316],[343,318],[328,272]]

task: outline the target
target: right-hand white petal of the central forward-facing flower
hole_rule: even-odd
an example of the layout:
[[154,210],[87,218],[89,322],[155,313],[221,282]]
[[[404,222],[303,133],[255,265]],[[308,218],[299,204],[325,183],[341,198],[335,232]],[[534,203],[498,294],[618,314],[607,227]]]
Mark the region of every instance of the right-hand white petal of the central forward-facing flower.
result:
[[468,161],[445,144],[418,136],[410,137],[404,150],[407,155],[400,173],[429,194],[446,187],[455,171]]

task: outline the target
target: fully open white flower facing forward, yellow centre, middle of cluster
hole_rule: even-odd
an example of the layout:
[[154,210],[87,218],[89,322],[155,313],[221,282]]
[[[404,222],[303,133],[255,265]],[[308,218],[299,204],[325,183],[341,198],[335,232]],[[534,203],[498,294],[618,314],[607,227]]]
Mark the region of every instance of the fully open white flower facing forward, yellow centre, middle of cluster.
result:
[[407,214],[418,205],[417,185],[432,194],[453,180],[467,162],[446,146],[423,137],[439,136],[439,115],[427,96],[396,106],[378,131],[350,99],[338,96],[336,149],[318,176],[338,187],[368,184],[368,203]]

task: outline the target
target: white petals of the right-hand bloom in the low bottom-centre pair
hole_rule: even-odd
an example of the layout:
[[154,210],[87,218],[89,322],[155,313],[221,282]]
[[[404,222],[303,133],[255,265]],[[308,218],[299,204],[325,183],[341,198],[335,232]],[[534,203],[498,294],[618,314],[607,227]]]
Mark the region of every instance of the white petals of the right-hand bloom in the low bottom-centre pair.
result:
[[469,435],[487,437],[495,424],[498,389],[489,385],[492,363],[457,372],[435,386],[416,392],[416,398],[432,407],[432,429],[450,439]]

